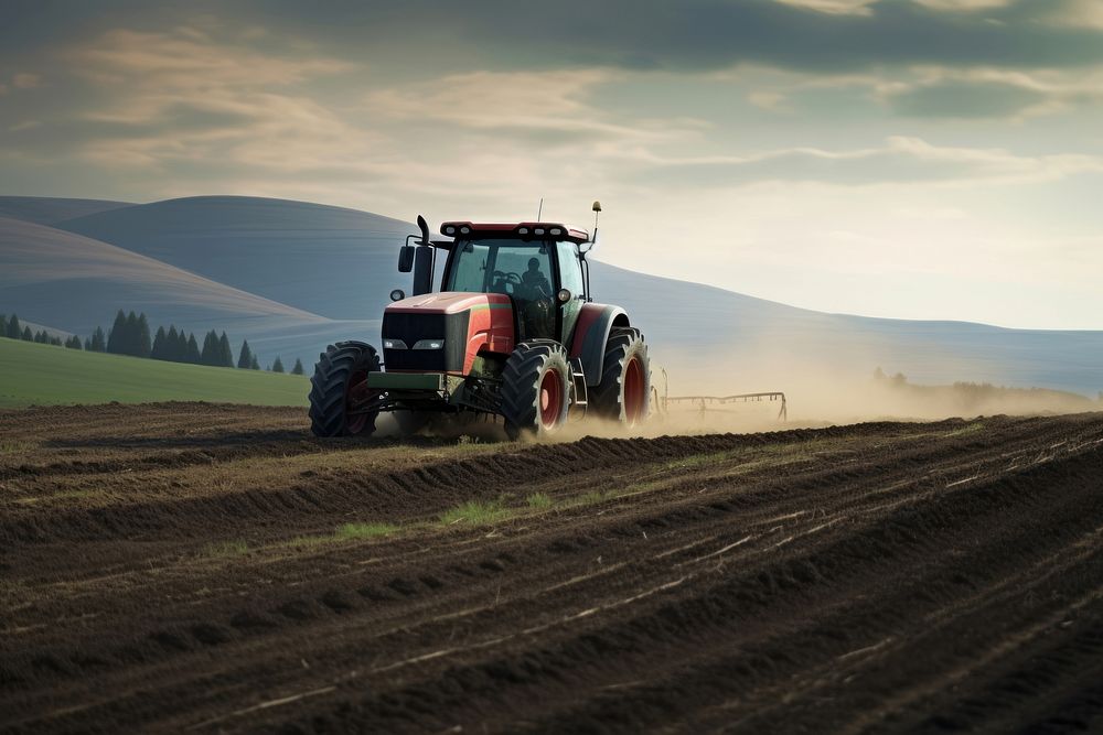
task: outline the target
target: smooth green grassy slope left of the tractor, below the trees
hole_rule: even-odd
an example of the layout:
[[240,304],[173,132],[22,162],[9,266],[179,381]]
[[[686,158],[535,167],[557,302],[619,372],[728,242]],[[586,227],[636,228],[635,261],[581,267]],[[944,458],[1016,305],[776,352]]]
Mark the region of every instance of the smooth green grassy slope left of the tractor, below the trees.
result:
[[302,376],[162,363],[0,338],[0,408],[212,401],[303,406]]

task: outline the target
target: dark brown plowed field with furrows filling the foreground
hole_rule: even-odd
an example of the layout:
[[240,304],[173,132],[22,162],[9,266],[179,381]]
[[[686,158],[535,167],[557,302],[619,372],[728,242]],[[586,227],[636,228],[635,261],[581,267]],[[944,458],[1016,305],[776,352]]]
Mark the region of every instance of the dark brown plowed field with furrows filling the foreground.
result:
[[319,442],[0,412],[0,729],[1103,731],[1103,415]]

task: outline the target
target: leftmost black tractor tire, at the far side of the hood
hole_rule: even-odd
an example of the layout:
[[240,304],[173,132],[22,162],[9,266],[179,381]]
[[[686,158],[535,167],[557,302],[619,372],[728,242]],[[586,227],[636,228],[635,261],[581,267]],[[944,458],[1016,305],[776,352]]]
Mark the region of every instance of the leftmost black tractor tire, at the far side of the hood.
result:
[[310,430],[314,436],[368,435],[378,410],[371,410],[378,391],[367,387],[367,374],[379,369],[375,348],[363,342],[339,342],[318,356],[310,379]]

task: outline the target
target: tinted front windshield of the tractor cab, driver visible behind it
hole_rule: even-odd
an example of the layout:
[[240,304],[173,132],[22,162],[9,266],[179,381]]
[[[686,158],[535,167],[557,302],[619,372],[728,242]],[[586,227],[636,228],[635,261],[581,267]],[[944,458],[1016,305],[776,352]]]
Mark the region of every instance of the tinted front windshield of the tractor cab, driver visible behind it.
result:
[[507,293],[535,300],[550,299],[554,248],[523,240],[457,242],[446,291]]

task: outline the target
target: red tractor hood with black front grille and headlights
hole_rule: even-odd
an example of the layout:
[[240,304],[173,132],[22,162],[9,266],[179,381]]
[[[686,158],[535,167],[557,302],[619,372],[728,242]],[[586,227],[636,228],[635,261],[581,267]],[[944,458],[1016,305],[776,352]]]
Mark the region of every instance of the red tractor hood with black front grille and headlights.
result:
[[480,352],[513,350],[513,302],[504,293],[426,293],[383,312],[387,371],[468,375]]

